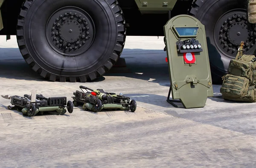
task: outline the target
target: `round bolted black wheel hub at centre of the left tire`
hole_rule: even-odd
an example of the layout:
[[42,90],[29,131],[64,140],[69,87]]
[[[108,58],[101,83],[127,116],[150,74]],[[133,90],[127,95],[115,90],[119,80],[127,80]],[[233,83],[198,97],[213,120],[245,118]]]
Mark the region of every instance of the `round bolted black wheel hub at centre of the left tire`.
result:
[[49,18],[46,34],[55,51],[75,56],[90,48],[95,28],[87,12],[76,7],[64,7]]

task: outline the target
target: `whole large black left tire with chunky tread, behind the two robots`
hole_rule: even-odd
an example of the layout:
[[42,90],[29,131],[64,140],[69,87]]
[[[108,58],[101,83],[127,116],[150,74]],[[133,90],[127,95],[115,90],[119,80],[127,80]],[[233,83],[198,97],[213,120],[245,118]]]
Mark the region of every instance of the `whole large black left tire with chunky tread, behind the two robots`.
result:
[[17,22],[23,58],[50,81],[102,76],[121,55],[125,38],[116,0],[26,0]]

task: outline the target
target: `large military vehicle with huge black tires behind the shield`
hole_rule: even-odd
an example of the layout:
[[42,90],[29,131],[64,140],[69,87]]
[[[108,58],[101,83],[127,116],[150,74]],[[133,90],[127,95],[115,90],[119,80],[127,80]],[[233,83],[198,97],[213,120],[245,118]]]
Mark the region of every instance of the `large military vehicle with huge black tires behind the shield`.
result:
[[[17,35],[25,61],[51,81],[89,81],[110,70],[126,35],[163,36],[179,14],[204,24],[212,78],[221,81],[241,41],[255,51],[246,0],[0,0],[0,35]],[[7,36],[9,37],[9,36]]]

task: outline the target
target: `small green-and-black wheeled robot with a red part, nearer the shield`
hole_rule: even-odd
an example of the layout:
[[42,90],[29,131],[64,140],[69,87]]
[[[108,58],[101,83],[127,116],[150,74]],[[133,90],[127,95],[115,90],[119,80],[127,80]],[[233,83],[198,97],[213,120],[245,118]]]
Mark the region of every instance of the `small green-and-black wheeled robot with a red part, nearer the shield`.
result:
[[[137,108],[136,101],[130,101],[130,98],[122,96],[122,93],[116,95],[116,93],[107,93],[103,89],[92,90],[84,86],[80,86],[80,89],[82,92],[76,90],[73,93],[73,104],[74,106],[83,104],[82,109],[84,110],[91,110],[95,113],[100,112],[102,109],[131,110],[131,112],[134,112]],[[83,89],[87,92],[84,93]]]

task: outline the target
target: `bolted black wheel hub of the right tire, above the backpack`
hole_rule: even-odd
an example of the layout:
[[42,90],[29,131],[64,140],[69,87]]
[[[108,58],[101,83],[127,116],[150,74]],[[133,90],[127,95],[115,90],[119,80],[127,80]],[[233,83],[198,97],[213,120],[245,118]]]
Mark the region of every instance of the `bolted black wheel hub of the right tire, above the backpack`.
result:
[[227,12],[215,25],[215,43],[221,52],[230,58],[236,56],[241,41],[244,41],[244,52],[250,52],[255,41],[247,29],[246,12]]

